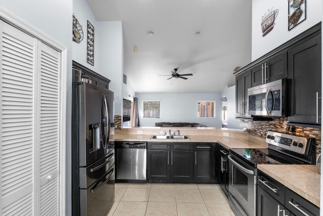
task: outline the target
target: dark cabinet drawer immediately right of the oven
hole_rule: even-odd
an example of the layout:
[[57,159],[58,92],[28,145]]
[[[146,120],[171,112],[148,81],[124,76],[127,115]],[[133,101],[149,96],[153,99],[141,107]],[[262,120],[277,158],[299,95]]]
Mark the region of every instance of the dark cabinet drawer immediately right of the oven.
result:
[[285,203],[286,187],[261,171],[258,177],[258,186],[272,195],[280,203]]

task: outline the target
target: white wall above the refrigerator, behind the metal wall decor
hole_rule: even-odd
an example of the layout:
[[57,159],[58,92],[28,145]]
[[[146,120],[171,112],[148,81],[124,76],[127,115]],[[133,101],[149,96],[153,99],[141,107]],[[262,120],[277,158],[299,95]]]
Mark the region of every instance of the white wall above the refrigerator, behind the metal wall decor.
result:
[[[86,0],[73,2],[73,14],[83,26],[84,39],[73,42],[73,60],[111,80],[115,115],[122,113],[123,27],[122,21],[96,21]],[[87,20],[94,27],[94,66],[87,63]]]

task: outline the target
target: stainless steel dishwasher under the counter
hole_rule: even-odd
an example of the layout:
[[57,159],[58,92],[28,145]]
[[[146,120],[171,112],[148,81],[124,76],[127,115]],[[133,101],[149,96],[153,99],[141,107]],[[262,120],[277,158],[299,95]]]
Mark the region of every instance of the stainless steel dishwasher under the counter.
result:
[[146,182],[147,143],[116,142],[117,181]]

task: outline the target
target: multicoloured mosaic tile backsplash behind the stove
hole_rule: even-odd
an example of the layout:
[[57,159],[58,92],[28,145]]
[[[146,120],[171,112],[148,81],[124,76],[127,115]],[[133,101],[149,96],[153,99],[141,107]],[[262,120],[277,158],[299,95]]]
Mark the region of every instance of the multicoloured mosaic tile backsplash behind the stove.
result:
[[274,117],[272,121],[253,121],[253,128],[248,129],[250,135],[265,139],[267,131],[291,133],[296,136],[314,138],[316,153],[321,152],[321,129],[302,126],[288,126],[288,119],[285,117]]

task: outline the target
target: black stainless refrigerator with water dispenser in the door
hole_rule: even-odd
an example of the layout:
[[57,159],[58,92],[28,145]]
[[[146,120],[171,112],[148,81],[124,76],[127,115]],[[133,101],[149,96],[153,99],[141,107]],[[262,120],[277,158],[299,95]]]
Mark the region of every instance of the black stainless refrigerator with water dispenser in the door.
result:
[[72,215],[106,215],[115,196],[114,93],[73,82]]

